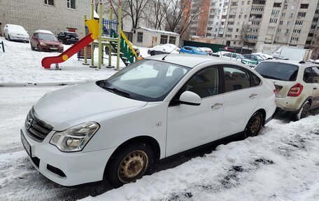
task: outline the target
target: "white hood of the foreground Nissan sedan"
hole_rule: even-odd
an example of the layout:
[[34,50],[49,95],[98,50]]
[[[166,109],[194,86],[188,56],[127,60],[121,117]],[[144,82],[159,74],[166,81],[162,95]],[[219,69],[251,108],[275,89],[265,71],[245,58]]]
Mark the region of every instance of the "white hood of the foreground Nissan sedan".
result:
[[35,116],[61,131],[88,121],[118,116],[146,106],[141,102],[104,90],[96,83],[64,88],[44,95],[34,104]]

